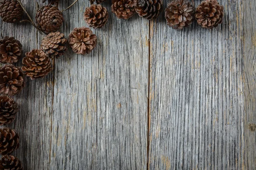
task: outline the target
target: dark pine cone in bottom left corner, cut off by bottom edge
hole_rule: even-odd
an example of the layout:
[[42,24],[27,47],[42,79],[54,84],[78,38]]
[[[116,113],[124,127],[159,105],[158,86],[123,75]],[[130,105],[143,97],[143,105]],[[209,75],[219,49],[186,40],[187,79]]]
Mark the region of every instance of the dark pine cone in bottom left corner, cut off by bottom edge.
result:
[[19,159],[5,155],[0,159],[0,170],[23,170]]

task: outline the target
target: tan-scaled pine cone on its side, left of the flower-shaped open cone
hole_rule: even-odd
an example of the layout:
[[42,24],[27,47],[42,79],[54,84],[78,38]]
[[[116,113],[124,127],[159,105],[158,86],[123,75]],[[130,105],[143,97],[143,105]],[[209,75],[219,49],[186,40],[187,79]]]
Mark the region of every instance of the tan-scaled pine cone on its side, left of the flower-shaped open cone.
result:
[[43,50],[50,57],[61,57],[67,50],[67,39],[64,38],[64,34],[60,32],[51,32],[48,34],[41,43],[41,50]]

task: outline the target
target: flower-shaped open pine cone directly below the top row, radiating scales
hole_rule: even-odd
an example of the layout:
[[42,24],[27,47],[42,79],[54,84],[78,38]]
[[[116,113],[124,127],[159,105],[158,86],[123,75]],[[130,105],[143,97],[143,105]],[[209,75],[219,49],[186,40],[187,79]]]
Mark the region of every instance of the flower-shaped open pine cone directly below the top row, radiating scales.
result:
[[76,54],[89,54],[97,43],[97,37],[90,28],[74,28],[69,34],[69,44]]

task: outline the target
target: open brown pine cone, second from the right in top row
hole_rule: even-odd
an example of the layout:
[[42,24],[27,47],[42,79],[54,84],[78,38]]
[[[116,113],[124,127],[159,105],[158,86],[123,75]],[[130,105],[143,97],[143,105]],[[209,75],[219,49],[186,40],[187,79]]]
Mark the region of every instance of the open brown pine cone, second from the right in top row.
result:
[[174,29],[188,27],[194,21],[194,8],[187,0],[174,0],[167,5],[165,18]]

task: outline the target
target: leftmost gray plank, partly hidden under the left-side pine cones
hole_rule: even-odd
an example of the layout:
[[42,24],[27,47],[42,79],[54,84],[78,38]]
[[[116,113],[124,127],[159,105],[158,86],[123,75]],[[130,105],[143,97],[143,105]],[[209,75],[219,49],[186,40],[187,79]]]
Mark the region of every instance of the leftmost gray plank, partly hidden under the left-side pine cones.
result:
[[[35,17],[35,2],[22,0],[32,18]],[[26,16],[24,15],[24,18]],[[38,48],[42,35],[29,23],[3,23],[0,20],[0,31],[3,36],[15,37],[23,45],[25,52]],[[22,59],[15,63],[22,66]],[[20,148],[13,155],[17,156],[26,170],[49,169],[51,115],[52,115],[52,73],[43,79],[30,80],[17,96],[13,96],[20,106],[14,128],[20,135]]]

